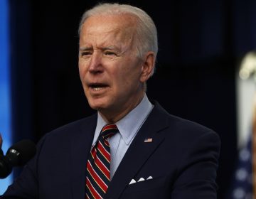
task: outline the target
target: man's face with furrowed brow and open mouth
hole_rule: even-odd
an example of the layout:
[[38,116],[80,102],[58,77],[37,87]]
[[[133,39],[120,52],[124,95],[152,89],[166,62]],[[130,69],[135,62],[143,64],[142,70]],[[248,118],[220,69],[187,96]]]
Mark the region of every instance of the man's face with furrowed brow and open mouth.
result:
[[82,26],[80,79],[90,107],[107,120],[122,118],[144,95],[134,30],[131,16],[92,16]]

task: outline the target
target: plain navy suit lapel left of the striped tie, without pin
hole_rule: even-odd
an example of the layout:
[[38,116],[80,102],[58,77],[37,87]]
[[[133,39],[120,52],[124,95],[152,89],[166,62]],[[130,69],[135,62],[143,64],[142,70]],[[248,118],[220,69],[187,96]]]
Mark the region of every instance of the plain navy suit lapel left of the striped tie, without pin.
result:
[[72,183],[73,198],[85,198],[85,177],[87,156],[90,153],[92,139],[95,133],[97,123],[97,114],[75,129],[73,140],[71,142],[71,171],[70,182]]

